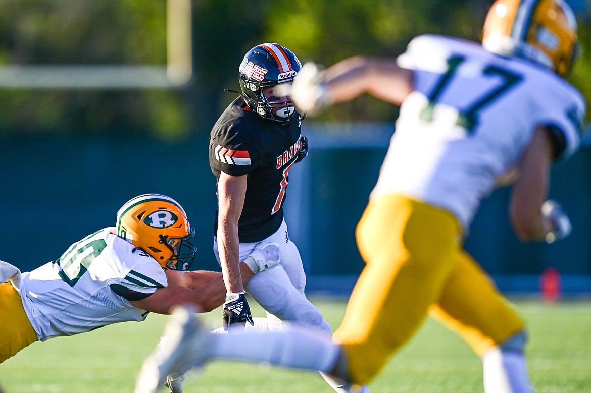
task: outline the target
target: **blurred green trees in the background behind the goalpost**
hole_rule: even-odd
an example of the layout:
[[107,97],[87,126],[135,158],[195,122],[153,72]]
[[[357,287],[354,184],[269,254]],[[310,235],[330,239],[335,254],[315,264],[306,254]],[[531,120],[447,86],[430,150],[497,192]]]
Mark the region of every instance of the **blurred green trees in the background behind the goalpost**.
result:
[[[178,140],[209,132],[238,90],[243,54],[278,42],[326,66],[354,54],[395,56],[414,35],[479,40],[490,2],[448,0],[193,0],[194,78],[181,89],[0,89],[0,134],[119,133]],[[166,62],[164,0],[0,0],[0,65]],[[591,99],[591,22],[570,81]],[[392,121],[369,96],[323,120]],[[590,118],[589,115],[587,117]]]

